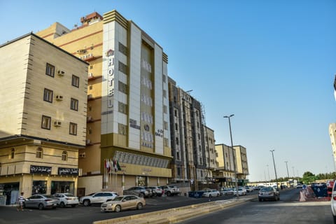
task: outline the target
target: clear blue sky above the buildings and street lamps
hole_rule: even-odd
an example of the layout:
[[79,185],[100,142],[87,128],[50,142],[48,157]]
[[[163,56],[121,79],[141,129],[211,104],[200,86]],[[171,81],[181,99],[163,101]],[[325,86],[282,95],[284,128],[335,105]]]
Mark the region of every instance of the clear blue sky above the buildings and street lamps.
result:
[[[0,44],[116,9],[165,50],[168,73],[202,102],[216,144],[246,147],[251,181],[334,172],[336,1],[3,1]],[[269,165],[269,168],[267,168]]]

